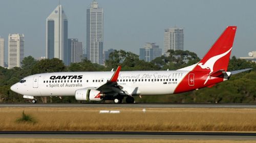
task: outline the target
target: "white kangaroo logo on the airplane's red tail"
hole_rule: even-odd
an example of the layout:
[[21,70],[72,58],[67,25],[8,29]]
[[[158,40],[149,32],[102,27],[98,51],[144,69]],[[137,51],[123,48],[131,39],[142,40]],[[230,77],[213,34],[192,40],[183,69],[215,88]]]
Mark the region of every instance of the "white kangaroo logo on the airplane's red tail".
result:
[[203,64],[203,63],[199,63],[199,64],[198,64],[198,66],[200,66],[202,69],[210,69],[209,75],[208,75],[207,79],[205,80],[204,84],[208,81],[210,74],[211,74],[212,72],[214,72],[214,65],[215,65],[215,63],[216,63],[219,59],[221,59],[223,56],[225,56],[227,53],[229,53],[229,52],[231,51],[231,49],[232,49],[232,47],[231,47],[228,51],[226,51],[226,52],[224,52],[224,53],[222,53],[222,54],[212,56],[212,57],[211,57],[208,61],[206,61],[204,64]]

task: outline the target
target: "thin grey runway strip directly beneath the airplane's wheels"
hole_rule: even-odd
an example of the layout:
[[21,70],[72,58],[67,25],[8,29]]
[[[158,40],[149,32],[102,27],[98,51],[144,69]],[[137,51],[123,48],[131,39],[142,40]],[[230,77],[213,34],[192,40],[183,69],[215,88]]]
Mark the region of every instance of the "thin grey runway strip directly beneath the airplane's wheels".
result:
[[256,104],[188,104],[188,103],[135,103],[135,104],[114,104],[114,103],[82,103],[82,104],[0,104],[3,107],[60,107],[60,108],[256,108]]

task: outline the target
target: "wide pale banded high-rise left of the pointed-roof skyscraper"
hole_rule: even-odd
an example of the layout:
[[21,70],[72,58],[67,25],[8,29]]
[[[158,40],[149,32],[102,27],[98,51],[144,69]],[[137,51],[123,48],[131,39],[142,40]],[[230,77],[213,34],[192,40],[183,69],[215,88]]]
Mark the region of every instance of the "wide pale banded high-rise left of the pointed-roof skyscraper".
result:
[[8,69],[22,66],[24,59],[24,34],[9,34]]

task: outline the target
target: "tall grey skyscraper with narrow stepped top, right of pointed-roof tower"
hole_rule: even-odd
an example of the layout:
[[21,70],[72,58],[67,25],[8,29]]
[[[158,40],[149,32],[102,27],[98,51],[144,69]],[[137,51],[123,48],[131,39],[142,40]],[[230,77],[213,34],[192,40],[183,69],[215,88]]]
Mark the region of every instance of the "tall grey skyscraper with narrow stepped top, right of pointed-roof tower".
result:
[[87,9],[87,59],[103,64],[103,9],[93,1]]

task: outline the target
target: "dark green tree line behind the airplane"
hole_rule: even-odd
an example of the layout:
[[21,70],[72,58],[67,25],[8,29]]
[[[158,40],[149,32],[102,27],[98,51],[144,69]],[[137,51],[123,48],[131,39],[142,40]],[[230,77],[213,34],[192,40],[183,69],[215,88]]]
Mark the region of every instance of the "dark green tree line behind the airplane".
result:
[[[161,56],[152,62],[139,60],[139,56],[124,50],[115,50],[105,61],[105,66],[93,64],[84,59],[81,63],[71,63],[65,66],[59,59],[45,59],[37,61],[32,56],[27,56],[22,62],[22,67],[6,69],[0,67],[0,103],[28,102],[22,95],[10,90],[11,85],[23,77],[49,72],[64,71],[110,71],[121,65],[121,71],[135,70],[177,70],[200,61],[197,54],[183,50],[169,50],[168,56]],[[218,83],[212,88],[198,91],[165,96],[135,97],[136,102],[174,102],[174,103],[255,103],[256,102],[256,64],[233,56],[229,61],[228,71],[253,68],[251,72],[233,75],[230,80]],[[51,103],[77,103],[74,97],[40,97],[38,102]],[[102,101],[104,102],[104,101]]]

